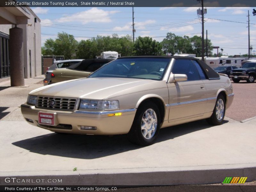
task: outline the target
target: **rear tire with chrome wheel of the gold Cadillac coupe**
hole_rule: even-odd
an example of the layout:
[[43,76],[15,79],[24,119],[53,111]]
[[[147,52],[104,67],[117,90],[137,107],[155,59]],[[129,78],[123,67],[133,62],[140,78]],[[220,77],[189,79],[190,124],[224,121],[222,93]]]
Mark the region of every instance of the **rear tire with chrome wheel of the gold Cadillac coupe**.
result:
[[217,97],[215,107],[212,112],[212,116],[206,121],[212,125],[220,125],[223,123],[226,112],[226,100],[223,95]]

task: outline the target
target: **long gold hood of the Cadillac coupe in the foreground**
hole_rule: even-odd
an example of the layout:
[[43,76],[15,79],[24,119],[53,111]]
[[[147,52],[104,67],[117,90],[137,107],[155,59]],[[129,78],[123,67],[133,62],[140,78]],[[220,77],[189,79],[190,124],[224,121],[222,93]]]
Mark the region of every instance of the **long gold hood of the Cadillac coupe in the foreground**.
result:
[[38,88],[29,94],[105,100],[132,92],[158,89],[166,86],[163,81],[135,78],[82,78]]

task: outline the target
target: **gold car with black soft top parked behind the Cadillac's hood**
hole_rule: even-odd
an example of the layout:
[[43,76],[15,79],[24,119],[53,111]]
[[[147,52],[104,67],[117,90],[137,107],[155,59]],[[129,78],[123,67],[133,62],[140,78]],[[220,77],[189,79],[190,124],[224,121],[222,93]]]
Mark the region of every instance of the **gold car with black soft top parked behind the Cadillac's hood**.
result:
[[82,60],[68,68],[59,68],[52,71],[52,83],[88,77],[92,72],[113,59],[87,59]]

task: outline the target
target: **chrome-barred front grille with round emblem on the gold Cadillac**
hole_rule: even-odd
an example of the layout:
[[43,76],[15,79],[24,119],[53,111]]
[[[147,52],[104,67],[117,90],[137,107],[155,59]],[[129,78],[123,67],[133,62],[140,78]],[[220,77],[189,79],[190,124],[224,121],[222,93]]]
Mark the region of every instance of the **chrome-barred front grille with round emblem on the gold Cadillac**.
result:
[[[51,105],[51,100],[55,100],[55,104]],[[76,99],[60,98],[60,97],[43,97],[38,96],[36,107],[45,109],[73,111],[76,105]]]

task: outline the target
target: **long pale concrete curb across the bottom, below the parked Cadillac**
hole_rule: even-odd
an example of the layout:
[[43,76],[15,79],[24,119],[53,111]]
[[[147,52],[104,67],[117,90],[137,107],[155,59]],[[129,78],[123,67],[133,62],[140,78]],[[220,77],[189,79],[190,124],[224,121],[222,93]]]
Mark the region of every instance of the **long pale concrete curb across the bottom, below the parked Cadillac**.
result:
[[[26,182],[6,183],[5,178]],[[65,185],[188,185],[221,183],[226,177],[256,180],[256,164],[225,164],[187,167],[133,168],[109,170],[0,172],[0,185],[52,185],[48,179],[62,180]],[[37,181],[44,182],[37,182]],[[62,183],[54,183],[61,185]]]

